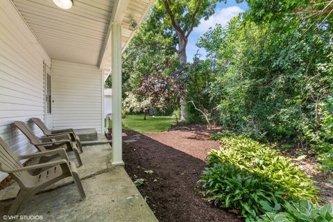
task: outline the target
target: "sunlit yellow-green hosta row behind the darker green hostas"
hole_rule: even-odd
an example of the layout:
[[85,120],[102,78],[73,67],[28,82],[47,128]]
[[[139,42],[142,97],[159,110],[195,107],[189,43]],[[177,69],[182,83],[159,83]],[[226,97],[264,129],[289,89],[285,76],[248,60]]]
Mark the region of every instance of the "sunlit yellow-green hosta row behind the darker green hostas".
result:
[[[214,137],[218,137],[215,135]],[[252,173],[266,176],[289,190],[288,196],[316,200],[313,181],[296,168],[288,157],[253,139],[230,134],[220,137],[223,148],[212,150],[207,164],[229,163]]]

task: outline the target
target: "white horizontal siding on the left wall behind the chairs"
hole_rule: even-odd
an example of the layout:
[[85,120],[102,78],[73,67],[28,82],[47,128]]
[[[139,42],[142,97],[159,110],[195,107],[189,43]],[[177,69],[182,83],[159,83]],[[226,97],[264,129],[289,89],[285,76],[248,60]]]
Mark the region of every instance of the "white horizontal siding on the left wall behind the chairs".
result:
[[[43,61],[51,65],[35,35],[8,0],[0,1],[0,137],[15,153],[32,153],[28,139],[10,125],[44,120]],[[42,132],[34,127],[35,133]],[[0,180],[6,177],[0,173]]]

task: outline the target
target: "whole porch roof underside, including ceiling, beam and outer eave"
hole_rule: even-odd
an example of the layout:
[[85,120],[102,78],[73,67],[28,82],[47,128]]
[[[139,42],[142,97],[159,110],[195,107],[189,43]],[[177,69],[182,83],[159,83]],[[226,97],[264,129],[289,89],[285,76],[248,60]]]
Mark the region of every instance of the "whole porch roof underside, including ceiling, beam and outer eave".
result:
[[111,26],[121,24],[121,51],[132,39],[153,0],[74,0],[68,10],[52,0],[12,0],[51,59],[96,65],[111,71]]

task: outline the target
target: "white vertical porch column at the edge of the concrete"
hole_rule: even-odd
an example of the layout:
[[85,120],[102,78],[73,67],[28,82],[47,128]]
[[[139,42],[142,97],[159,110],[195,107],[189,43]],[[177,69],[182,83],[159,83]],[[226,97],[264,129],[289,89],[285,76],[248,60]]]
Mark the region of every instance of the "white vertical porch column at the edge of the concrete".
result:
[[121,25],[112,24],[112,164],[123,164],[121,129]]

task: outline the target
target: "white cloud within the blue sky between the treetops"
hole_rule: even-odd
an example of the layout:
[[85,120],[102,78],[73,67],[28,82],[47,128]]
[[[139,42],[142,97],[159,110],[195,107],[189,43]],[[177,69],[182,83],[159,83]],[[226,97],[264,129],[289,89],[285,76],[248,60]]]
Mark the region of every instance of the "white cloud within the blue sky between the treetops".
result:
[[216,24],[221,24],[225,26],[232,17],[237,16],[239,13],[244,12],[243,9],[238,6],[232,6],[228,8],[221,8],[216,10],[214,15],[212,15],[208,20],[201,19],[198,27],[194,28],[196,33],[205,33],[208,31],[208,28],[215,27]]

